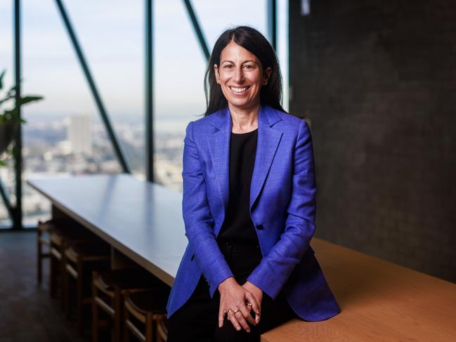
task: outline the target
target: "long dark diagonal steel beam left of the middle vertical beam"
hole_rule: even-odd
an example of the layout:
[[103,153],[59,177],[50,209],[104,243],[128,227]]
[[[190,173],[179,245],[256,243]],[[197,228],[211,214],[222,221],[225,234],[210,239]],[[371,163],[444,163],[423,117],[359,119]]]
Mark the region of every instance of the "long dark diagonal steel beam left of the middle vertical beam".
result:
[[60,15],[62,16],[63,22],[65,27],[67,28],[68,35],[72,41],[74,50],[76,51],[77,58],[79,59],[79,63],[81,64],[82,70],[84,71],[84,75],[86,76],[87,82],[89,83],[89,87],[92,91],[93,98],[95,99],[95,103],[98,107],[98,112],[100,112],[101,119],[103,119],[103,123],[105,124],[106,131],[108,131],[108,136],[111,140],[112,147],[114,148],[114,152],[119,160],[120,165],[122,166],[122,170],[124,173],[131,173],[131,167],[126,160],[125,153],[122,149],[122,146],[119,144],[119,140],[115,135],[114,130],[112,129],[112,125],[110,119],[108,117],[108,113],[105,110],[105,105],[103,105],[103,101],[101,100],[100,94],[98,93],[97,87],[95,85],[95,81],[91,75],[89,70],[89,65],[86,63],[86,59],[84,58],[84,54],[82,53],[82,49],[79,45],[79,41],[77,40],[76,34],[74,29],[71,25],[70,18],[68,18],[67,11],[63,7],[61,0],[56,0],[56,4]]

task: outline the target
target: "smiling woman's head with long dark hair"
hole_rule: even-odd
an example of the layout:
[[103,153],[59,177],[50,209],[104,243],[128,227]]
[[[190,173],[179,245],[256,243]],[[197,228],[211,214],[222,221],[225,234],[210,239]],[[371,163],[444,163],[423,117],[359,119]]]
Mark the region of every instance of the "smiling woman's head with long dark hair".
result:
[[[247,90],[249,92],[240,100],[233,97],[234,93]],[[223,32],[209,59],[204,92],[207,98],[204,115],[226,107],[230,100],[240,107],[258,107],[263,103],[283,111],[278,59],[263,34],[242,26]]]

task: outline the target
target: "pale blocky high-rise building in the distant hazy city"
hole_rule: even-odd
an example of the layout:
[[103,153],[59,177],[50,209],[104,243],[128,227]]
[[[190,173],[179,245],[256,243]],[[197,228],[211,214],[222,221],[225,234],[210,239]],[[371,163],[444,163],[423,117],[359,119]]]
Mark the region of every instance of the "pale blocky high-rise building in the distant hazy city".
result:
[[91,117],[89,115],[70,117],[68,140],[72,153],[92,155]]

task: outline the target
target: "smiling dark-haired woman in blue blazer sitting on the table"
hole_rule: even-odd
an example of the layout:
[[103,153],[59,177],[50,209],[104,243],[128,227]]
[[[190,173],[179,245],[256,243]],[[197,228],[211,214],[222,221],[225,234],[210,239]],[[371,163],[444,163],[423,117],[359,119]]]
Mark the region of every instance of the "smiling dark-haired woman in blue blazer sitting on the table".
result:
[[263,35],[245,26],[223,32],[205,90],[207,111],[184,138],[189,244],[169,296],[168,341],[259,341],[296,315],[337,315],[309,246],[311,134],[280,105],[278,60]]

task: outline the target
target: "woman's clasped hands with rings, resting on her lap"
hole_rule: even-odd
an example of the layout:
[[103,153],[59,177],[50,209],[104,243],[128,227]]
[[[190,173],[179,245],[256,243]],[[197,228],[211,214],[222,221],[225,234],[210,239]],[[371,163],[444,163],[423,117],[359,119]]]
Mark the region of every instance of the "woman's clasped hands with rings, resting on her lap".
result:
[[[252,284],[252,286],[254,285]],[[219,284],[219,292],[219,328],[223,327],[223,317],[226,314],[228,315],[228,320],[230,320],[237,331],[242,327],[245,331],[250,332],[247,322],[256,325],[260,321],[261,306],[256,301],[254,294],[245,287],[241,287],[240,284],[237,284],[233,277],[229,277]],[[247,305],[247,303],[250,303],[250,305]],[[255,320],[250,315],[251,309],[256,314]],[[227,313],[226,310],[228,310]]]

